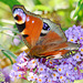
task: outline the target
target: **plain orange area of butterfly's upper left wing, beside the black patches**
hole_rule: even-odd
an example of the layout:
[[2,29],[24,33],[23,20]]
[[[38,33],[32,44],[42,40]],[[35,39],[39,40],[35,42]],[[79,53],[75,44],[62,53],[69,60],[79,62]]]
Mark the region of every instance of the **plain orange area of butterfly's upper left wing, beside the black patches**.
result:
[[31,46],[34,46],[39,40],[43,22],[39,18],[32,15],[27,14],[27,18],[30,18],[30,21],[25,20],[25,29],[22,31],[22,34],[28,34],[25,40]]

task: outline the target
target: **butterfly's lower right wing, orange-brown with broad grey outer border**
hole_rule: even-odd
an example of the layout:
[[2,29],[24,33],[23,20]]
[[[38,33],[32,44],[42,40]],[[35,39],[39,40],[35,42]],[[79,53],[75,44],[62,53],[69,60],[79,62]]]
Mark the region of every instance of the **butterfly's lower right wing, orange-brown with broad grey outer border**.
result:
[[48,19],[43,19],[43,22],[49,24],[50,30],[42,31],[42,37],[38,41],[37,45],[30,51],[31,55],[46,56],[46,58],[62,58],[71,50],[77,49],[77,44],[68,43],[66,38],[60,28],[60,25],[51,22]]

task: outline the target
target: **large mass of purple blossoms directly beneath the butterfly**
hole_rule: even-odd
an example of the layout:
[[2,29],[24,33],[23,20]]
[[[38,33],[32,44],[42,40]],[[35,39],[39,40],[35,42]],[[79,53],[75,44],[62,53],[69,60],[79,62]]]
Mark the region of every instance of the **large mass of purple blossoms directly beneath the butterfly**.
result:
[[[25,53],[23,52],[20,55],[24,59]],[[20,60],[21,56],[19,56]],[[70,56],[69,59],[62,59],[62,60],[53,60],[52,66],[54,68],[50,68],[51,65],[48,66],[50,60],[48,60],[46,61],[48,63],[45,63],[43,62],[44,59],[42,59],[42,61],[40,59],[28,59],[28,61],[24,59],[22,60],[23,63],[19,63],[20,61],[18,61],[18,63],[13,64],[13,71],[11,71],[10,77],[11,80],[14,80],[14,77],[24,79],[24,75],[27,75],[27,71],[31,70],[31,72],[29,72],[29,75],[27,75],[29,81],[37,81],[38,83],[44,83],[44,82],[63,83],[68,82],[66,80],[69,80],[73,82],[74,80],[79,80],[80,76],[82,76],[82,74],[77,76],[79,73],[77,71],[74,70],[79,61],[75,60],[74,56]]]

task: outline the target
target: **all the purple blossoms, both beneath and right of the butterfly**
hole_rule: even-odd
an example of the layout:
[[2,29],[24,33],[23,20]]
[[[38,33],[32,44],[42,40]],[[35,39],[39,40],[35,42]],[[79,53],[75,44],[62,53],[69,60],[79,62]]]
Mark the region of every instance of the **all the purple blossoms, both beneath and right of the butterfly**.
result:
[[[73,40],[73,43],[81,43],[80,52],[75,55],[70,55],[69,59],[28,59],[27,53],[21,53],[17,63],[12,65],[13,70],[10,77],[14,81],[17,79],[24,79],[28,81],[35,81],[37,83],[71,83],[74,80],[82,80],[83,73],[83,56],[82,56],[82,37],[81,27],[73,27],[65,31],[68,41]],[[76,33],[80,32],[80,35]],[[71,37],[70,37],[70,35]]]

